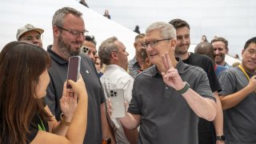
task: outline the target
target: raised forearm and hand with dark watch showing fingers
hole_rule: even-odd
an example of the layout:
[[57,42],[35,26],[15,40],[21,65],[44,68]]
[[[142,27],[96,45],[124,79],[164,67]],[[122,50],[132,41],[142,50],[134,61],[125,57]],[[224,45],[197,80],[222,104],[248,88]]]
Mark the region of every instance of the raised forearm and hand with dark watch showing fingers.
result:
[[166,73],[162,72],[163,81],[182,93],[190,108],[201,118],[213,121],[216,116],[216,103],[213,99],[203,98],[201,95],[190,89],[186,82],[178,74],[178,70],[172,66],[168,53],[162,55],[162,62],[166,68]]

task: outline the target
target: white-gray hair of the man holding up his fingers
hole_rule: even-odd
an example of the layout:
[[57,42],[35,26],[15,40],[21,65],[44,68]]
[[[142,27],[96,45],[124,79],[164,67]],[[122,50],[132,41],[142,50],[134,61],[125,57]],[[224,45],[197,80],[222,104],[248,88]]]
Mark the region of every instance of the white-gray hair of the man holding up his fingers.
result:
[[149,33],[152,30],[161,30],[163,38],[175,38],[176,39],[176,30],[174,26],[166,22],[154,22],[146,28],[146,33]]

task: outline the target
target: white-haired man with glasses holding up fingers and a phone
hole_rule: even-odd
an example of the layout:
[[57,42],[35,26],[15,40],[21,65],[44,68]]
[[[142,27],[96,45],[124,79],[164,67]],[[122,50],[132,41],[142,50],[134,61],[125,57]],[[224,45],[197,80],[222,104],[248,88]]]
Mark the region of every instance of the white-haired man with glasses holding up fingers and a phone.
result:
[[[174,26],[154,22],[142,46],[154,64],[134,79],[126,117],[127,129],[139,127],[138,143],[198,144],[198,119],[212,121],[216,103],[206,72],[174,57]],[[108,101],[111,114],[111,102]]]

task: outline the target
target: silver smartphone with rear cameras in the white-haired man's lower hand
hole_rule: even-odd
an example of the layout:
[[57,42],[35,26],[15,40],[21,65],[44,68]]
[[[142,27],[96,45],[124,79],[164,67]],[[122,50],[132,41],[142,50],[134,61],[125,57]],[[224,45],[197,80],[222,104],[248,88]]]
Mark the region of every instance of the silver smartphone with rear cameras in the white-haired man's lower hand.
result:
[[113,89],[110,90],[110,101],[112,102],[112,118],[123,118],[126,116],[124,90]]

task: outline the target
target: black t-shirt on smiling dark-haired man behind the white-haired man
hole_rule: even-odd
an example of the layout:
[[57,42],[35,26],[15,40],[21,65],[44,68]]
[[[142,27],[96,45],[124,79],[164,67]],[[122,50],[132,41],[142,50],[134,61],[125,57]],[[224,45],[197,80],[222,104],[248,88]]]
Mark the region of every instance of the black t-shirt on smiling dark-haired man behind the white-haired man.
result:
[[[189,58],[183,60],[184,63],[192,66],[199,66],[206,71],[207,77],[210,82],[210,89],[214,91],[222,90],[218,77],[215,74],[213,62],[206,55],[190,53]],[[212,122],[200,118],[198,122],[198,140],[199,144],[214,143],[215,131]]]

